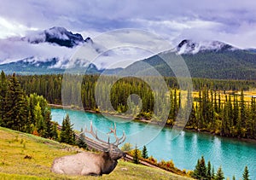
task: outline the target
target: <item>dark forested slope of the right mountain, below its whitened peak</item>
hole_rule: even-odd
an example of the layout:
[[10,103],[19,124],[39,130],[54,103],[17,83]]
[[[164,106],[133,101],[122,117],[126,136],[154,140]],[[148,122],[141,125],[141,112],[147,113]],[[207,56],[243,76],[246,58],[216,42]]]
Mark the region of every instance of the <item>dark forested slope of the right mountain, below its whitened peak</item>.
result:
[[[150,68],[155,68],[162,76],[173,77],[172,69],[161,58],[172,63],[171,56],[174,52],[167,51],[154,55],[143,61],[137,61],[125,68],[125,73],[148,74]],[[181,55],[189,68],[193,78],[218,78],[218,79],[242,79],[255,80],[256,78],[256,53],[247,50],[204,50],[196,54]],[[178,57],[177,57],[178,58]],[[148,68],[145,67],[148,64]],[[173,63],[172,63],[173,64]],[[183,71],[181,67],[174,68]],[[147,73],[148,72],[148,73]]]

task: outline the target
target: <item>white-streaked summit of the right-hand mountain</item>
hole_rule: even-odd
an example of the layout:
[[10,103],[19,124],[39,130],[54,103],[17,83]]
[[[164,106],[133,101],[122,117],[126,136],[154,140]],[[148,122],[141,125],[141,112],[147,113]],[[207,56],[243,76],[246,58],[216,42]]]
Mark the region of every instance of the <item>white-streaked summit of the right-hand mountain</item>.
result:
[[222,51],[236,49],[230,44],[224,44],[220,41],[193,41],[191,39],[183,39],[183,41],[177,45],[178,54],[196,54],[198,52],[210,50],[210,51]]

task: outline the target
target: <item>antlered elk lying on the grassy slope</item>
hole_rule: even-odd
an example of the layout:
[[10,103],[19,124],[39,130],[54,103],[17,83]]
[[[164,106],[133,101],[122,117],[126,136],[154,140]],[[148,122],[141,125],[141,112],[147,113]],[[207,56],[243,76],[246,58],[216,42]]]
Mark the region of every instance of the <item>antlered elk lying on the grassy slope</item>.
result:
[[[58,174],[67,175],[81,175],[81,176],[102,176],[102,174],[109,174],[118,164],[120,158],[125,157],[125,153],[121,151],[118,146],[125,142],[125,131],[120,138],[116,135],[116,125],[110,128],[108,133],[108,142],[98,138],[97,132],[92,129],[92,122],[90,122],[90,131],[86,126],[82,133],[90,133],[98,142],[101,142],[103,151],[101,154],[91,152],[83,152],[79,154],[67,155],[54,160],[51,171]],[[109,134],[113,133],[115,142],[109,142]]]

